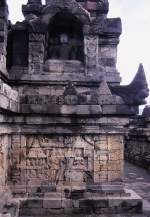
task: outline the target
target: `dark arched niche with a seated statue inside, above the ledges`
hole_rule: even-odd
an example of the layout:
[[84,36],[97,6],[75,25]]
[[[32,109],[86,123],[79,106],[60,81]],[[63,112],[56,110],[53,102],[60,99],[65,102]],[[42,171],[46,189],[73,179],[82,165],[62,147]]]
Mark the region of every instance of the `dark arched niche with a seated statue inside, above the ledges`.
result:
[[50,20],[45,59],[84,61],[83,24],[67,10]]

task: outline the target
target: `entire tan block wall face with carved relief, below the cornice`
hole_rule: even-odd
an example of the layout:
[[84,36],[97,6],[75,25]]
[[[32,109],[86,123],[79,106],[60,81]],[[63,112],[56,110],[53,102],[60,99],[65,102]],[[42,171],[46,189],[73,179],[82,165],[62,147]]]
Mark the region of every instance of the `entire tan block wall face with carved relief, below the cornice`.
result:
[[44,183],[55,187],[108,183],[120,178],[122,153],[120,137],[12,136],[9,183],[22,185],[27,192]]

